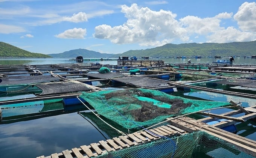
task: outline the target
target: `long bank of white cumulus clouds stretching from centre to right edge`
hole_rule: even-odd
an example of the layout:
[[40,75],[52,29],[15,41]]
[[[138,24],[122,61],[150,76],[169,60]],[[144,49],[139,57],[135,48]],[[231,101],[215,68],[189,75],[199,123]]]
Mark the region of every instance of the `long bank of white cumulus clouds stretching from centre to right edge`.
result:
[[254,2],[244,3],[234,15],[241,30],[234,26],[224,27],[223,21],[233,20],[232,12],[222,12],[207,18],[186,16],[177,20],[177,15],[171,11],[152,11],[147,7],[139,8],[137,4],[130,7],[123,5],[121,9],[127,21],[119,26],[96,26],[94,38],[109,39],[115,44],[161,46],[173,41],[193,42],[192,39],[198,40],[199,37],[205,37],[207,42],[219,43],[253,41],[256,37],[256,34],[251,32],[256,31]]

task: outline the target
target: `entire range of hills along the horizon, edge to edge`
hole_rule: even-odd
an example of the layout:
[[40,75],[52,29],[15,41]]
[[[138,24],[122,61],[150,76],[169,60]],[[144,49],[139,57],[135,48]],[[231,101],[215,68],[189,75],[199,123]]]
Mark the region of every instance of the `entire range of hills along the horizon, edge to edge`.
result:
[[5,42],[0,42],[0,57],[64,57],[75,58],[118,58],[119,56],[136,57],[177,57],[177,56],[254,56],[256,55],[256,41],[231,43],[188,43],[166,44],[146,50],[129,50],[120,54],[99,53],[86,49],[76,49],[56,54],[31,53]]

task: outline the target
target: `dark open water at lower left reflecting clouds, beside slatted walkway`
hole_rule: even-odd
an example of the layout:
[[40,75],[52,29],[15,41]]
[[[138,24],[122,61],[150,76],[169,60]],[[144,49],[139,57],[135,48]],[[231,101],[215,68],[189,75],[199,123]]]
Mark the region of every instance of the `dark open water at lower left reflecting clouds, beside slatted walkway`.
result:
[[3,158],[50,155],[105,140],[77,113],[0,126],[0,153]]

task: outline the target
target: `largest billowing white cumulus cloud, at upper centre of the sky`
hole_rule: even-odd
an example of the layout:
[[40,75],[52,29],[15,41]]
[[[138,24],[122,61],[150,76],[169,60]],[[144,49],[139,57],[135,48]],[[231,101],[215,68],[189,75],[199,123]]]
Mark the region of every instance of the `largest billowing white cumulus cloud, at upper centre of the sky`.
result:
[[176,14],[171,11],[151,11],[149,8],[139,8],[137,4],[131,7],[122,6],[121,10],[128,19],[122,26],[111,27],[100,25],[94,28],[94,37],[110,39],[116,44],[139,43],[140,45],[159,46],[171,42],[175,38],[186,41],[186,30],[180,27]]

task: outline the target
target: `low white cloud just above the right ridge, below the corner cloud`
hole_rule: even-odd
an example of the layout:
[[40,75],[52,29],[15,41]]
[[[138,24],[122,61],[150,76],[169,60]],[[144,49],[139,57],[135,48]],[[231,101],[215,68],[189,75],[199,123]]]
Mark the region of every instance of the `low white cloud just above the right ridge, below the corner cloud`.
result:
[[227,43],[227,42],[244,42],[244,41],[254,41],[256,35],[250,32],[242,32],[233,27],[228,27],[225,30],[221,30],[208,36],[207,42],[213,43]]

